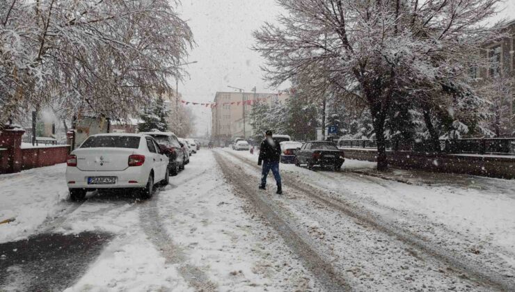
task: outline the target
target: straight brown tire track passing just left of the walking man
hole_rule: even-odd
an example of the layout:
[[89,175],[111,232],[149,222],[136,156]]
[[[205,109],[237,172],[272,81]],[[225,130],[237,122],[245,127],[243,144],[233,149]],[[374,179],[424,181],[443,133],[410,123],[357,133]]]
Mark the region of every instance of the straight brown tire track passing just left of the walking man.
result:
[[331,263],[328,263],[304,238],[294,232],[290,224],[283,220],[278,215],[278,212],[274,211],[269,202],[256,191],[257,188],[255,186],[248,185],[248,178],[244,173],[230,168],[219,153],[214,152],[214,155],[225,178],[231,182],[232,186],[239,188],[239,193],[244,194],[255,205],[267,222],[283,237],[285,243],[292,251],[299,255],[304,266],[319,279],[320,283],[324,284],[328,291],[351,291],[349,284],[347,284],[342,275],[334,270]]

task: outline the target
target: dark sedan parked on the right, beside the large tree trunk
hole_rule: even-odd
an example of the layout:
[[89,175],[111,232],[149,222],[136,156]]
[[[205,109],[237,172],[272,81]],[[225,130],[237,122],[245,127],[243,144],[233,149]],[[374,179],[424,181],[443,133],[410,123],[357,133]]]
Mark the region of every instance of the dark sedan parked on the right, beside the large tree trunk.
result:
[[344,152],[328,141],[308,141],[295,151],[295,165],[306,164],[309,169],[319,165],[321,168],[330,166],[340,170],[344,161]]

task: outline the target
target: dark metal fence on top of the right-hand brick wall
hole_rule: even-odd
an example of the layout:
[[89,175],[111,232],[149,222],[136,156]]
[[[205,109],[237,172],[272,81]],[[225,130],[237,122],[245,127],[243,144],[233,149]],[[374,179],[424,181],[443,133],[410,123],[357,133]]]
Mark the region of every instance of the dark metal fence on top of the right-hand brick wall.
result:
[[[373,139],[340,139],[338,147],[373,149],[377,148],[377,141]],[[400,140],[386,140],[386,148],[395,151],[433,152],[429,140],[409,143]],[[440,149],[444,153],[515,155],[515,138],[441,139]]]

